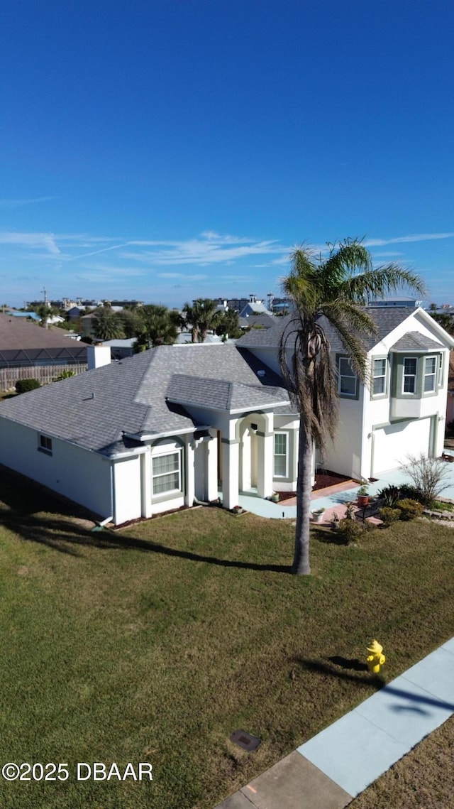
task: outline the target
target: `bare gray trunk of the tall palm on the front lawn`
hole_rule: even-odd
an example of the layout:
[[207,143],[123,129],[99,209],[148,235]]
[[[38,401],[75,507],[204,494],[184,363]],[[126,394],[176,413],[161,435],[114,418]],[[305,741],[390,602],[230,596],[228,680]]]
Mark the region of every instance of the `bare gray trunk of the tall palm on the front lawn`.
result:
[[297,576],[310,574],[309,566],[309,515],[312,493],[312,436],[307,434],[303,419],[300,419],[298,446],[298,481],[296,484],[296,531],[295,556],[292,573]]

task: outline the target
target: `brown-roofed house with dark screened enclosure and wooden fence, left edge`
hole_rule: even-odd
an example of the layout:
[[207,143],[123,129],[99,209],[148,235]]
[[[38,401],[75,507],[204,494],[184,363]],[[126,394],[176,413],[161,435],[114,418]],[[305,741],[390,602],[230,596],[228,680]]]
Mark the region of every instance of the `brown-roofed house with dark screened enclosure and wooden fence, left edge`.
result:
[[86,371],[86,345],[77,345],[60,328],[54,331],[0,315],[0,390],[14,388],[26,377],[51,382],[65,369]]

